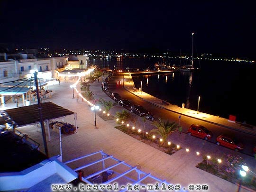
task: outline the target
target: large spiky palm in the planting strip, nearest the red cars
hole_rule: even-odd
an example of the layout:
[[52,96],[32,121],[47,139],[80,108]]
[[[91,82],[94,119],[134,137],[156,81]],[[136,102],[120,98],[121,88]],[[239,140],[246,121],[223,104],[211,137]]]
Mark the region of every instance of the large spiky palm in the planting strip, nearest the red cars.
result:
[[159,118],[159,123],[154,121],[152,123],[156,128],[152,129],[150,132],[155,133],[158,136],[162,137],[163,142],[161,143],[162,146],[166,146],[166,140],[169,135],[171,135],[175,130],[177,130],[180,126],[175,122],[166,122]]

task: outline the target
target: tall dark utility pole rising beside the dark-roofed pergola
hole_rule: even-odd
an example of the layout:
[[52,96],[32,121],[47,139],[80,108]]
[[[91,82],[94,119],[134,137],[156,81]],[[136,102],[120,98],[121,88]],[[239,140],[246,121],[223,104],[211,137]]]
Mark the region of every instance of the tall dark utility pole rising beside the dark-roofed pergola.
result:
[[45,130],[43,114],[42,114],[42,104],[41,104],[40,95],[39,95],[39,91],[38,91],[37,72],[35,72],[34,75],[35,75],[34,77],[35,77],[35,82],[36,82],[36,87],[37,87],[37,103],[38,103],[38,110],[39,110],[39,114],[40,114],[41,129],[42,129],[42,134],[43,134],[45,152],[46,152],[46,156],[49,157],[48,156],[47,142],[46,142],[46,130]]

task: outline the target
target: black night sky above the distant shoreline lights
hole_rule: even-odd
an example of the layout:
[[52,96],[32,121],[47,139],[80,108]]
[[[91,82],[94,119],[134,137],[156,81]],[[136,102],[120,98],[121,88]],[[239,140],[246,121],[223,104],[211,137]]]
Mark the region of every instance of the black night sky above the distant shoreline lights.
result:
[[[250,3],[251,2],[251,3]],[[0,0],[0,44],[255,57],[253,1]]]

